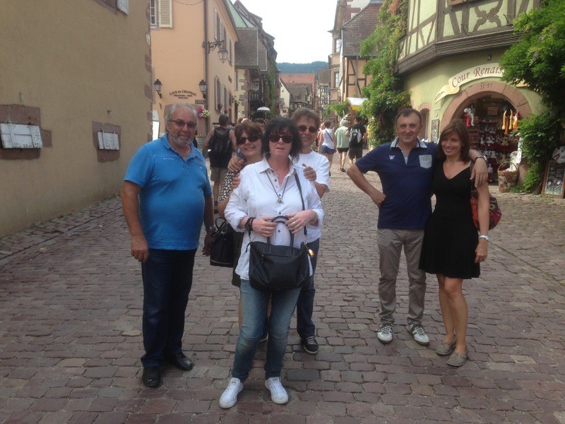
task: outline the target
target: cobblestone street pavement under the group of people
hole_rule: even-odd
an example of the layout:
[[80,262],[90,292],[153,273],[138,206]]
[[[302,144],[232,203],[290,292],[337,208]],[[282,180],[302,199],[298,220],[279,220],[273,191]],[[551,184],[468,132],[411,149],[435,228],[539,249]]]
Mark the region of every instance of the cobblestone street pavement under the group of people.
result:
[[287,405],[263,387],[260,347],[237,406],[218,406],[238,292],[230,270],[200,255],[184,338],[196,365],[143,387],[140,266],[112,199],[0,239],[0,422],[565,423],[565,201],[497,194],[504,216],[489,259],[482,278],[464,284],[470,361],[453,369],[434,353],[442,326],[432,276],[430,346],[403,327],[405,269],[395,338],[377,341],[376,208],[335,166],[331,184],[316,275],[321,347],[303,353],[293,321]]

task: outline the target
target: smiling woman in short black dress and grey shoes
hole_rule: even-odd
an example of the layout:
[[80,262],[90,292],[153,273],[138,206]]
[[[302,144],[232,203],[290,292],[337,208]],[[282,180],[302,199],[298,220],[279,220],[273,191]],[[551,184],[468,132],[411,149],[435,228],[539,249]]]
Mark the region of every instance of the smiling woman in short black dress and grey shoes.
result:
[[436,207],[429,218],[422,244],[420,269],[435,273],[439,283],[439,305],[446,336],[436,348],[449,355],[449,365],[467,362],[468,307],[463,279],[480,275],[480,262],[487,258],[489,241],[489,187],[477,189],[480,235],[470,208],[469,133],[463,122],[452,122],[439,137],[438,160],[432,190]]

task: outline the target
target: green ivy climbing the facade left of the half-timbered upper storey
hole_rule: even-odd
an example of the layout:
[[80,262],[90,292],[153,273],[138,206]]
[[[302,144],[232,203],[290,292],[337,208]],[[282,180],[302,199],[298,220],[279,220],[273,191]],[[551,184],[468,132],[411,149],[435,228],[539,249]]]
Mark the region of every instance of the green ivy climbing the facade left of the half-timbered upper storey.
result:
[[371,75],[371,82],[362,89],[364,102],[360,113],[371,124],[371,145],[382,144],[394,138],[394,120],[398,110],[410,105],[410,93],[400,89],[394,76],[394,66],[400,39],[405,35],[408,1],[385,0],[379,12],[379,23],[374,33],[361,44],[362,57],[371,57],[363,72]]

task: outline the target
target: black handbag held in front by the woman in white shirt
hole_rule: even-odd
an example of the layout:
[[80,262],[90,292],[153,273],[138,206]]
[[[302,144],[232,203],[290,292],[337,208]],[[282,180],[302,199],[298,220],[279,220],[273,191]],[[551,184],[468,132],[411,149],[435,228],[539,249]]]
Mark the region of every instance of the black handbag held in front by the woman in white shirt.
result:
[[[286,223],[285,216],[271,222]],[[310,280],[308,247],[303,242],[294,247],[295,235],[290,232],[290,246],[267,242],[249,243],[249,283],[256,290],[276,291],[301,288]]]

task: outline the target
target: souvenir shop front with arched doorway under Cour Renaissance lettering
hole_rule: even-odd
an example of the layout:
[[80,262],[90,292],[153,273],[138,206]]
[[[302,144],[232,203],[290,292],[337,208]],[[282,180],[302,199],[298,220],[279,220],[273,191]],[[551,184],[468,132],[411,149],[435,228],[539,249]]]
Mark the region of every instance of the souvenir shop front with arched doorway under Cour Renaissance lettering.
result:
[[542,110],[539,95],[501,81],[495,57],[499,55],[489,54],[485,61],[484,54],[465,54],[419,69],[404,80],[412,107],[422,112],[420,136],[437,142],[451,120],[461,119],[469,129],[472,148],[487,157],[493,182],[501,165],[501,169],[509,167],[510,160],[520,165],[515,131],[523,117]]

